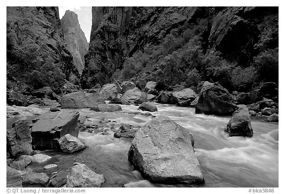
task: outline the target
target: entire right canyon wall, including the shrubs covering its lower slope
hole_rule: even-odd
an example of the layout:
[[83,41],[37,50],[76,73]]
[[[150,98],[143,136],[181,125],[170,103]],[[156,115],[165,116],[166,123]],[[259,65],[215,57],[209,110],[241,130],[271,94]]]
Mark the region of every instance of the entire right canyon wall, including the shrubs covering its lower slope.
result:
[[[93,7],[92,15],[84,88],[112,77],[231,90],[278,82],[278,7]],[[267,55],[274,62],[264,77]]]

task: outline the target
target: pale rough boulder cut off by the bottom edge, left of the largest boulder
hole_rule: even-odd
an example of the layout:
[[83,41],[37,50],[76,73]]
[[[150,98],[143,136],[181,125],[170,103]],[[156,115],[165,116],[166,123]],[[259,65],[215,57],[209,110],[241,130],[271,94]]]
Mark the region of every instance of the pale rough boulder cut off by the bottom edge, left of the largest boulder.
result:
[[67,175],[66,187],[101,187],[105,182],[103,175],[99,175],[85,164],[72,167]]

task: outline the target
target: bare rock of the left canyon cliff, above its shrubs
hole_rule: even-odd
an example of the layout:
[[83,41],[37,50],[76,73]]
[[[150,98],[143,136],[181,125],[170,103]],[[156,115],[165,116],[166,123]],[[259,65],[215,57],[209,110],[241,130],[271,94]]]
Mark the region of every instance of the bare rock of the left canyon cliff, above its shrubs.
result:
[[[17,74],[13,72],[13,68],[19,68],[20,64],[28,65],[28,62],[25,63],[28,56],[35,58],[37,62],[34,61],[33,67],[20,67],[22,72],[19,73],[29,73],[29,68],[30,71],[37,71],[46,62],[54,64],[54,68],[61,69],[67,80],[71,76],[80,78],[78,70],[73,65],[72,55],[64,42],[58,7],[7,7],[6,14],[7,63],[9,64],[7,77],[15,78]],[[55,73],[51,72],[51,74]],[[23,79],[24,75],[19,77]]]

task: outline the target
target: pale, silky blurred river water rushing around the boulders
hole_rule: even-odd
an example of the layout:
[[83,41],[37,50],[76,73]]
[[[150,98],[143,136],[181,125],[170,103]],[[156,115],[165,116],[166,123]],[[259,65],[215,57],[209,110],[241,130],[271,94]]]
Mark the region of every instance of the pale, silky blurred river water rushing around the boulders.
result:
[[[195,114],[194,108],[156,104],[154,115],[166,115],[193,134],[194,150],[199,160],[205,184],[195,187],[278,187],[278,123],[252,120],[252,138],[228,137],[224,129],[230,117]],[[123,111],[139,111],[138,106],[122,105]],[[91,122],[102,119],[143,126],[151,117],[122,114],[121,112],[97,113],[89,109],[77,109],[80,118],[90,116]],[[12,119],[7,119],[11,123]],[[15,119],[14,119],[15,120]],[[13,121],[14,121],[13,120]],[[128,161],[131,141],[109,135],[81,132],[79,139],[88,148],[67,154],[44,151],[53,158],[43,164],[31,164],[37,172],[50,175],[54,171],[68,169],[74,162],[86,164],[96,173],[103,174],[104,187],[185,187],[185,185],[153,184],[143,180]],[[44,170],[46,164],[55,163],[57,169]]]

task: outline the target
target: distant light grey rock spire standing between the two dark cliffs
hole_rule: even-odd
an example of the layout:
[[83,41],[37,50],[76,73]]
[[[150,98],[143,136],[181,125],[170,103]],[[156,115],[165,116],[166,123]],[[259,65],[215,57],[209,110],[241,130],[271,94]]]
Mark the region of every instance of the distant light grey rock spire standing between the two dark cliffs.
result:
[[81,75],[85,63],[84,55],[88,51],[89,44],[80,28],[77,14],[67,10],[61,18],[61,28],[67,48],[73,56],[73,63]]

